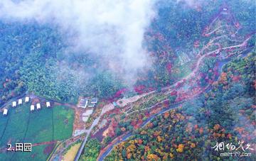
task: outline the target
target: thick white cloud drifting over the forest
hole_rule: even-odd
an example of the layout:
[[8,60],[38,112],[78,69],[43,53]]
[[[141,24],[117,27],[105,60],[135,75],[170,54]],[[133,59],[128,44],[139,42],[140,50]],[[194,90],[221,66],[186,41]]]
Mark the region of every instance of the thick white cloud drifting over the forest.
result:
[[73,50],[102,57],[115,74],[132,80],[150,66],[142,48],[154,17],[152,0],[1,0],[0,18],[53,23],[71,33]]

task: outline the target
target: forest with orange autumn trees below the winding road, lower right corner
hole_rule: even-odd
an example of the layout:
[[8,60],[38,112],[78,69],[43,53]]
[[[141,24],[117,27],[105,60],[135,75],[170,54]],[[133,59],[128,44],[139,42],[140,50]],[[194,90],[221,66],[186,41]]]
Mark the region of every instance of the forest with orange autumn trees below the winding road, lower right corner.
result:
[[[106,160],[239,160],[216,143],[255,147],[255,51],[225,65],[213,89],[167,111],[115,146]],[[245,149],[244,148],[244,149]],[[239,148],[237,152],[251,152]]]

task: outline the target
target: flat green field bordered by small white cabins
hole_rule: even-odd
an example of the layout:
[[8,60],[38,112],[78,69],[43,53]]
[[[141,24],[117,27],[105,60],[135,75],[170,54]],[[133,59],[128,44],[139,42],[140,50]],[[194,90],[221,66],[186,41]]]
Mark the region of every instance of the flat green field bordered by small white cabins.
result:
[[[30,113],[29,105],[9,109],[8,116],[0,116],[0,146],[7,143],[42,143],[64,140],[72,135],[74,111],[66,106],[54,106]],[[50,145],[39,145],[32,152],[0,153],[0,160],[46,160]]]

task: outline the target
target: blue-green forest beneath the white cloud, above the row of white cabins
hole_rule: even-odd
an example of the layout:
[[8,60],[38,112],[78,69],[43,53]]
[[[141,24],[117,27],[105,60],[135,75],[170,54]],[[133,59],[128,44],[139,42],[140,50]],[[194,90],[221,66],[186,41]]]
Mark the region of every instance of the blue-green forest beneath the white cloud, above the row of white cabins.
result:
[[79,95],[108,98],[122,88],[97,69],[99,57],[65,53],[65,35],[49,24],[0,21],[0,30],[0,105],[26,91],[75,103]]

